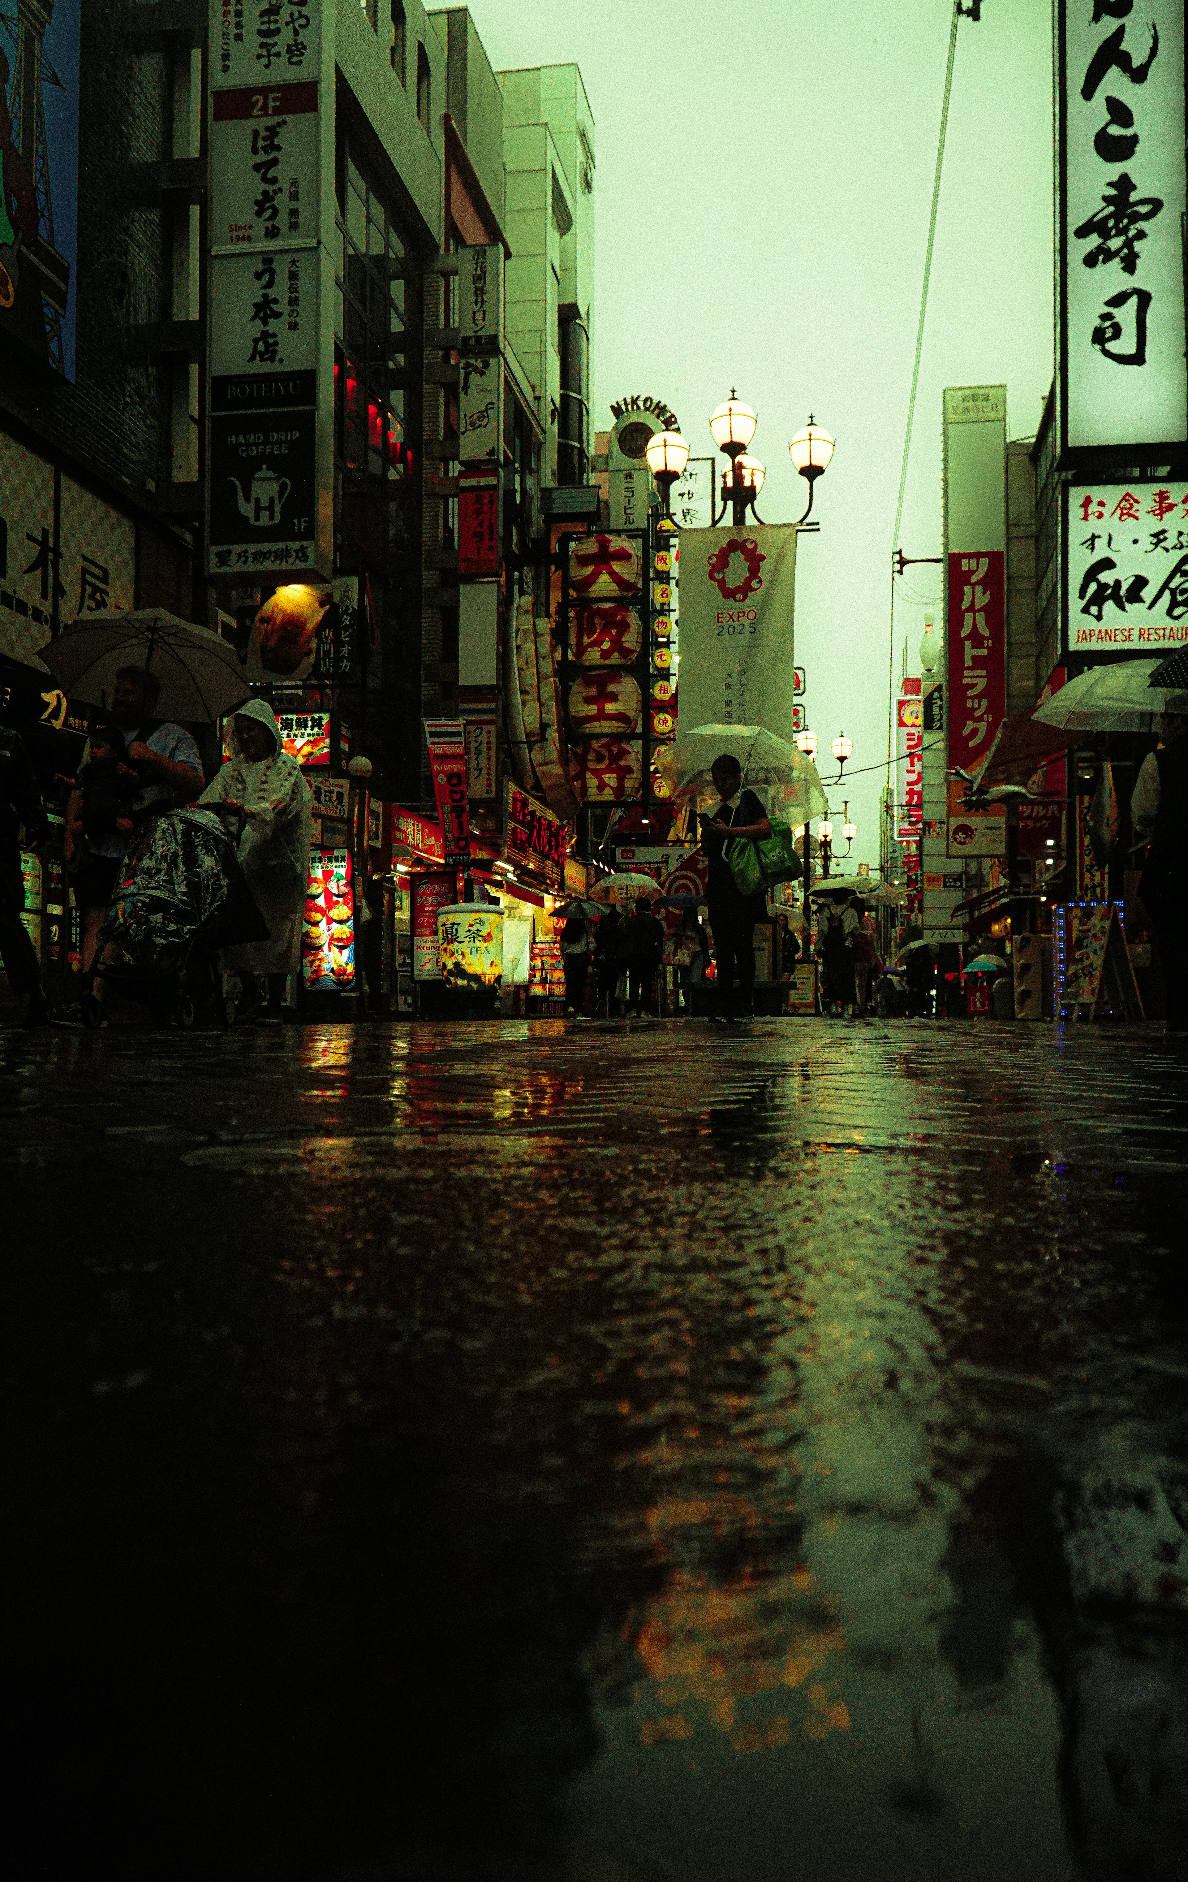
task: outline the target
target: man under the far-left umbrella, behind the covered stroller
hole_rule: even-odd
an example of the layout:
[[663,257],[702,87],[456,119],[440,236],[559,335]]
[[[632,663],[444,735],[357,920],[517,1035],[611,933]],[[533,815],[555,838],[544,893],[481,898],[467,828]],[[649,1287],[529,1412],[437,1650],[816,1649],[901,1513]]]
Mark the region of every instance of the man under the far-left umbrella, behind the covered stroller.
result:
[[[201,758],[192,736],[181,725],[153,717],[160,694],[156,676],[143,666],[120,666],[111,693],[109,719],[122,734],[124,749],[119,762],[136,774],[132,796],[134,826],[147,817],[186,804],[203,787]],[[90,745],[83,766],[92,758]],[[66,868],[72,871],[75,903],[83,918],[83,973],[94,960],[100,928],[115,890],[120,862],[132,832],[113,828],[107,836],[87,839],[87,853],[77,847],[83,826],[83,792],[72,790],[66,805]]]

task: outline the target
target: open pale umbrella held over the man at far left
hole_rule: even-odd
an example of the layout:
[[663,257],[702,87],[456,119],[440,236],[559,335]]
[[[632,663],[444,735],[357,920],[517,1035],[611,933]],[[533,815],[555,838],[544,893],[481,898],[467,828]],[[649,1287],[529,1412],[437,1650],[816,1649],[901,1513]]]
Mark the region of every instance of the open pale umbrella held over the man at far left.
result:
[[164,608],[81,615],[38,647],[72,698],[109,706],[120,666],[143,666],[160,683],[154,719],[222,719],[249,696],[235,649],[207,627]]

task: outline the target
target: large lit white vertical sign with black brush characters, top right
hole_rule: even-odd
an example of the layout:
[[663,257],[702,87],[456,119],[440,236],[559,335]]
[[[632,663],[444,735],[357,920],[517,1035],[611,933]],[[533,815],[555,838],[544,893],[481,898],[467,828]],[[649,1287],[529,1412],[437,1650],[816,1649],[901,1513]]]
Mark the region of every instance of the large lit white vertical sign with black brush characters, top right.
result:
[[1184,6],[1058,0],[1062,446],[1188,437]]

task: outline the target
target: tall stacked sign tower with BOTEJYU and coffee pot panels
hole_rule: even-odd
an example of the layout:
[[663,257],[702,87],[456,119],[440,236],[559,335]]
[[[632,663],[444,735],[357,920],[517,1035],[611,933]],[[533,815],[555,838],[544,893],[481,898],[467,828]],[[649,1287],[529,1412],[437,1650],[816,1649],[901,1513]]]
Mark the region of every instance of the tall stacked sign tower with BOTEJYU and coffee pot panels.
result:
[[331,81],[329,0],[211,0],[211,574],[331,572]]

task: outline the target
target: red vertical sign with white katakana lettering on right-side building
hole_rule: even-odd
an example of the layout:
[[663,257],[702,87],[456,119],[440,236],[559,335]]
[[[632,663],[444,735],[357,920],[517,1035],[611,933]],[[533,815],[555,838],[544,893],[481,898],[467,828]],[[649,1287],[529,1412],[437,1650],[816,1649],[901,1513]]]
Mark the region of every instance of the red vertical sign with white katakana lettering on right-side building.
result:
[[1007,704],[1005,555],[949,555],[949,764],[981,764]]

